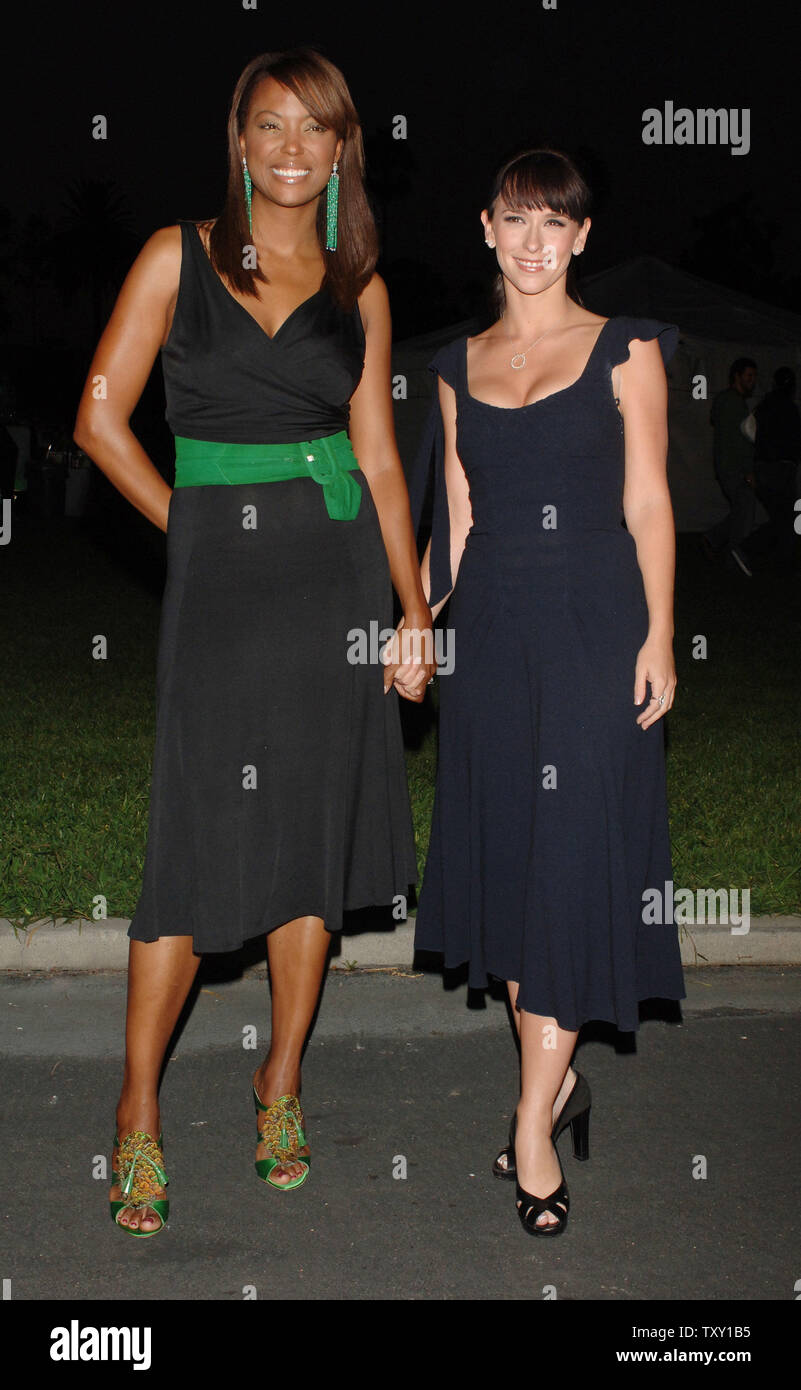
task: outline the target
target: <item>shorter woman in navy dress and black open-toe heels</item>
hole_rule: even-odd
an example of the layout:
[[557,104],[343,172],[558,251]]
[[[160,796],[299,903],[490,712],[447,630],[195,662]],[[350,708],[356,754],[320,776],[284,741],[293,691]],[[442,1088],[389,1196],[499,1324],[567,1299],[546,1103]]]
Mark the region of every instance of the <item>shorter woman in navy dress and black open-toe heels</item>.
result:
[[578,1027],[637,1029],[640,999],[684,997],[674,926],[644,917],[644,894],[663,899],[672,877],[663,360],[677,329],[572,297],[588,202],[558,152],[501,170],[481,214],[499,317],[431,363],[412,482],[419,514],[432,463],[423,582],[434,619],[453,594],[455,644],[416,945],[469,962],[471,986],[508,983],[521,1084],[494,1170],[516,1173],[526,1230],[548,1236],[567,1220],[553,1144],[567,1125],[587,1156]]

